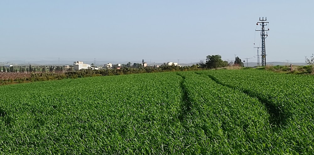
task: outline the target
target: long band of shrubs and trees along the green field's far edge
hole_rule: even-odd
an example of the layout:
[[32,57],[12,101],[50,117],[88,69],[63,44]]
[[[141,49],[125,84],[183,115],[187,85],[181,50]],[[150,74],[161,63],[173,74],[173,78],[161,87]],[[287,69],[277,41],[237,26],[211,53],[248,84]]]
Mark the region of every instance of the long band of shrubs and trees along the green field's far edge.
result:
[[[143,61],[144,63],[144,61]],[[236,58],[235,64],[239,63],[239,66],[243,66],[241,63],[241,59]],[[228,66],[227,61],[223,61],[221,56],[212,55],[206,57],[206,63],[201,61],[199,64],[192,66],[160,66],[160,67],[143,67],[140,63],[134,63],[131,65],[131,62],[127,64],[123,64],[121,69],[100,69],[100,70],[92,70],[92,69],[83,69],[79,71],[66,70],[64,71],[62,67],[49,67],[49,71],[46,71],[46,67],[41,69],[33,68],[29,66],[28,68],[23,69],[20,68],[19,72],[29,72],[29,77],[11,79],[11,81],[18,81],[19,83],[23,82],[35,82],[35,81],[47,81],[47,80],[55,80],[55,79],[66,79],[66,78],[79,78],[79,77],[94,77],[94,76],[112,76],[112,75],[126,75],[126,74],[138,74],[138,73],[154,73],[154,72],[176,72],[176,71],[193,71],[193,70],[203,70],[203,69],[213,69],[213,68],[221,68]],[[11,69],[11,68],[10,68]],[[11,71],[9,69],[9,72]],[[64,72],[62,72],[64,71]]]

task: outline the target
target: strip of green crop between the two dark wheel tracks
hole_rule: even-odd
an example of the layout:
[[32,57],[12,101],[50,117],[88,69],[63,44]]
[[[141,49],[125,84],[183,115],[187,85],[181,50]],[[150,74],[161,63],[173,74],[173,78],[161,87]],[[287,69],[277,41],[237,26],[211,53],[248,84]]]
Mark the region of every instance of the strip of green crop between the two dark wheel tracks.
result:
[[[185,122],[186,153],[269,152],[272,136],[267,109],[246,94],[194,72],[180,72],[191,103]],[[193,154],[194,154],[193,153]]]

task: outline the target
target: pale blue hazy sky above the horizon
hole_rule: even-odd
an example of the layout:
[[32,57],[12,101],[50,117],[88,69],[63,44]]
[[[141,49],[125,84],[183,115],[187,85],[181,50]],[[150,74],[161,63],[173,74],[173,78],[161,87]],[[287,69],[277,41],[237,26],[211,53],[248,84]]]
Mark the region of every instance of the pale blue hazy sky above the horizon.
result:
[[259,17],[269,23],[267,61],[314,53],[313,0],[0,0],[0,61],[197,62],[257,55]]

